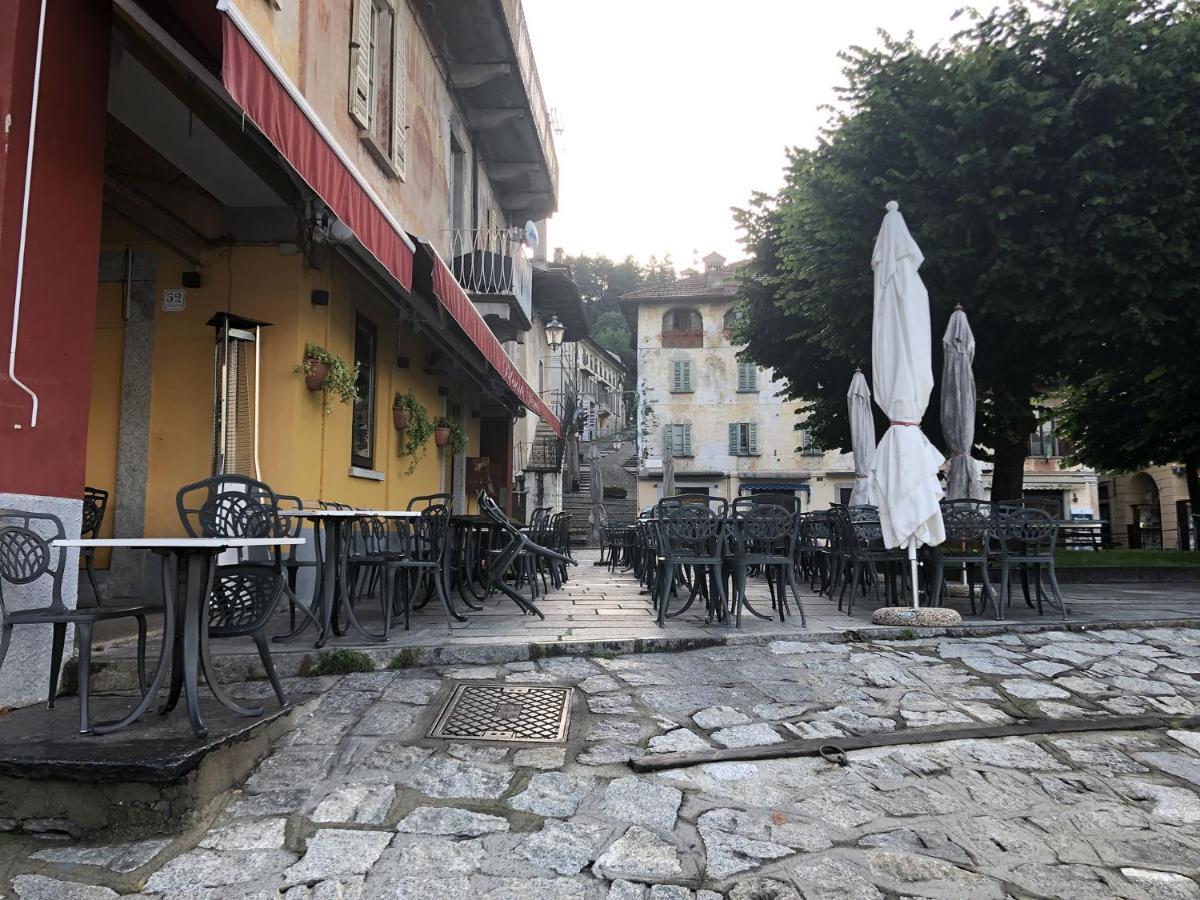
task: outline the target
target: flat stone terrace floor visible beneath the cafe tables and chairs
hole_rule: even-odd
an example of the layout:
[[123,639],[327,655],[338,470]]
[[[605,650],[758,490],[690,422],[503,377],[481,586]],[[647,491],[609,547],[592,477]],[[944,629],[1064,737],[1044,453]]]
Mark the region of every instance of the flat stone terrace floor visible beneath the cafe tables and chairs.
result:
[[[455,626],[446,634],[442,613],[430,604],[414,612],[413,628],[392,631],[386,646],[348,635],[334,637],[329,648],[346,647],[368,653],[377,665],[386,665],[397,652],[415,654],[415,660],[426,665],[467,661],[505,662],[533,659],[541,653],[594,653],[613,650],[631,653],[642,650],[673,650],[718,643],[766,643],[774,640],[827,640],[839,637],[878,637],[889,635],[888,629],[870,624],[876,604],[874,598],[860,599],[853,616],[838,610],[836,602],[800,587],[808,623],[800,624],[798,616],[786,622],[763,622],[744,616],[738,629],[706,623],[700,605],[695,605],[678,618],[668,619],[659,628],[650,611],[648,595],[640,592],[637,581],[630,572],[610,572],[606,566],[592,563],[598,558],[595,550],[576,552],[580,565],[571,569],[571,577],[560,590],[553,590],[539,599],[538,606],[545,620],[521,616],[506,599],[488,599],[481,612],[466,611],[468,623]],[[1064,590],[1070,626],[1100,623],[1122,624],[1146,622],[1178,623],[1200,622],[1200,584],[1074,584]],[[751,581],[748,590],[750,601],[758,610],[770,610],[766,584]],[[966,612],[966,601],[955,601]],[[377,601],[364,601],[361,616],[367,628],[378,630]],[[461,606],[461,604],[460,604]],[[997,623],[990,616],[965,616],[965,632],[989,632],[1014,628],[1054,629],[1061,623],[1060,614],[1046,610],[1038,616],[1026,607],[1019,590],[1009,610],[1009,618]],[[277,632],[287,631],[287,616],[277,617]],[[271,653],[276,668],[286,676],[296,674],[304,660],[312,655],[312,632],[287,644],[272,644]],[[218,641],[215,643],[217,665],[226,679],[244,678],[246,672],[259,672],[258,654],[250,638]],[[107,664],[106,672],[97,677],[101,689],[131,688],[133,670],[133,646],[115,642],[94,655]]]

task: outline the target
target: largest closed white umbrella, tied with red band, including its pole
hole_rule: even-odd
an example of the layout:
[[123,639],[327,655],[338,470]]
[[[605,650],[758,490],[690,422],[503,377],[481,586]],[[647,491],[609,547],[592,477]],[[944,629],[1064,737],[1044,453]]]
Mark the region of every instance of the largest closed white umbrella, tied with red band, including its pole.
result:
[[900,205],[889,200],[887,210],[871,254],[871,368],[875,402],[892,425],[875,451],[871,490],[884,545],[908,550],[912,605],[917,606],[917,547],[946,540],[937,481],[944,458],[920,430],[934,389],[929,294],[917,274],[924,257],[908,234]]

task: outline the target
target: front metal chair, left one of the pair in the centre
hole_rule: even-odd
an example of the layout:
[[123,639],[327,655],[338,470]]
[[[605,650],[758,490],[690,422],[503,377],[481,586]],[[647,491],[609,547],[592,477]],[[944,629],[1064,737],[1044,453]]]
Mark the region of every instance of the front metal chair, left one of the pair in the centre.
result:
[[[660,583],[656,586],[659,625],[665,625],[668,616],[674,618],[685,613],[701,593],[706,593],[707,622],[727,616],[725,580],[721,577],[725,564],[725,518],[707,504],[667,505],[659,510],[658,532],[661,568]],[[676,576],[684,569],[690,569],[692,577],[688,601],[680,610],[668,614],[667,604]],[[703,590],[706,582],[712,582],[712,593]]]

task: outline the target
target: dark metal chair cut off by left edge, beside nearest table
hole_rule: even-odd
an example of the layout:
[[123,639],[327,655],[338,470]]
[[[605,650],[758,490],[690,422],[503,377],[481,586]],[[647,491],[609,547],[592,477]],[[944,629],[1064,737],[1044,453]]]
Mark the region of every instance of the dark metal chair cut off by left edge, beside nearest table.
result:
[[[67,552],[52,547],[55,540],[64,540],[66,532],[62,520],[47,512],[24,512],[0,509],[0,668],[8,653],[12,630],[17,625],[53,625],[50,644],[50,689],[47,708],[54,708],[59,692],[59,670],[62,666],[62,649],[66,643],[67,625],[79,631],[79,732],[91,731],[89,700],[91,683],[91,629],[97,622],[132,618],[138,623],[138,686],[145,694],[146,661],[146,607],[95,607],[72,610],[62,601],[62,575]],[[36,610],[8,611],[4,600],[5,582],[14,586],[32,584],[42,578],[50,580],[50,604]]]

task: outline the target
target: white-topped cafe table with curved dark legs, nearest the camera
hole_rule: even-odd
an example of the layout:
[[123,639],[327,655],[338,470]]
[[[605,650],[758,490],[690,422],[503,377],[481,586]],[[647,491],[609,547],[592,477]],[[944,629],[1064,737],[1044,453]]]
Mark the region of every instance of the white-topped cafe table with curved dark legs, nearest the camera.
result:
[[[181,683],[187,700],[187,716],[197,737],[208,734],[200,716],[199,668],[204,668],[204,680],[209,690],[229,709],[242,715],[262,715],[262,707],[244,707],[226,694],[216,678],[209,655],[209,584],[217,556],[227,550],[250,547],[282,547],[304,544],[302,538],[88,538],[54,541],[56,547],[128,547],[149,550],[163,557],[163,629],[162,650],[155,667],[154,679],[142,702],[120,721],[97,722],[92,731],[106,734],[137,721],[154,703],[162,688],[167,670],[172,670],[172,682]],[[167,557],[176,563],[175,571],[186,572],[182,594],[175,590],[169,575]],[[175,658],[175,643],[180,644],[182,659]]]

